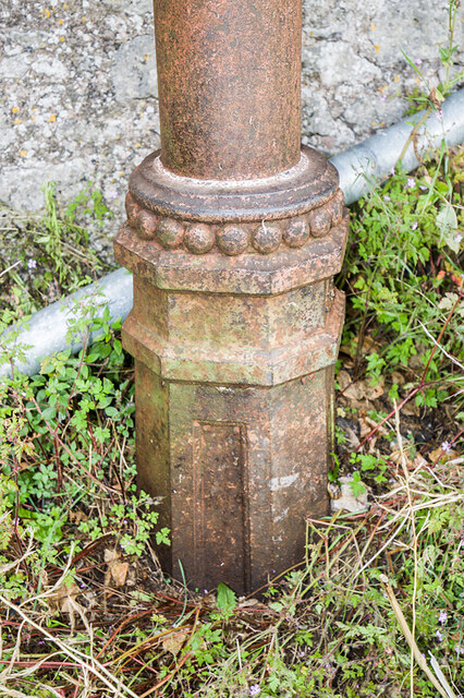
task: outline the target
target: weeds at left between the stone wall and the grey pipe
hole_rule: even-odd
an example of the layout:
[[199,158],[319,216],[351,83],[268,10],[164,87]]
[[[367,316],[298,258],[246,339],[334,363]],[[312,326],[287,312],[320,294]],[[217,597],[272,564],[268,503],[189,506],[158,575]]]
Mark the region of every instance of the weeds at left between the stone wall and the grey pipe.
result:
[[42,189],[42,215],[17,215],[7,209],[0,229],[4,301],[0,323],[5,325],[58,300],[62,292],[89,284],[109,267],[89,245],[88,230],[111,215],[101,193],[88,184],[63,212],[54,184],[49,182]]

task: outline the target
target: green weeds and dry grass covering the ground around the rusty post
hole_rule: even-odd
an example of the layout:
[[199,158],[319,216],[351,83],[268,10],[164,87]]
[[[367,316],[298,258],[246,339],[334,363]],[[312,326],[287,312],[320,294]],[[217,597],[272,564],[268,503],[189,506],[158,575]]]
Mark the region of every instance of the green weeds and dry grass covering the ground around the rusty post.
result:
[[[105,320],[87,346],[95,299],[70,328],[78,357],[2,384],[0,694],[464,693],[462,160],[398,171],[353,209],[330,479],[367,506],[308,519],[305,559],[261,594],[161,574],[169,532],[134,481],[132,363]],[[65,291],[81,272],[61,254]],[[39,281],[27,258],[3,273],[4,322],[34,309],[44,258]]]

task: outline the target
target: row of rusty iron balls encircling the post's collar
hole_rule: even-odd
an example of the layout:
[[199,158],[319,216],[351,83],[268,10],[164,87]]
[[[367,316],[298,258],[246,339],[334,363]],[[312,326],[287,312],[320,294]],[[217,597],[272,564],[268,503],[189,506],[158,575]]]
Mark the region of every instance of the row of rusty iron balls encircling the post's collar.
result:
[[183,221],[144,208],[130,192],[125,200],[127,222],[143,240],[164,250],[192,254],[219,251],[229,256],[244,252],[271,254],[281,245],[301,248],[310,238],[322,238],[344,216],[343,193],[338,189],[322,206],[300,216],[255,222],[210,224]]

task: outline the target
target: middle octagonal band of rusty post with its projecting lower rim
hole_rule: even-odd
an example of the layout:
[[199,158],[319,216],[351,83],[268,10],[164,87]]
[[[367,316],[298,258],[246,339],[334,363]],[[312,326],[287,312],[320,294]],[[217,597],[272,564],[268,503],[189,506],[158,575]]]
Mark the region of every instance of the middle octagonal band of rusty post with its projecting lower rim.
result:
[[[164,309],[157,325],[146,322],[151,303]],[[141,311],[124,323],[124,346],[161,377],[272,386],[334,363],[343,298],[328,280],[235,297],[166,292],[135,279],[134,308]]]

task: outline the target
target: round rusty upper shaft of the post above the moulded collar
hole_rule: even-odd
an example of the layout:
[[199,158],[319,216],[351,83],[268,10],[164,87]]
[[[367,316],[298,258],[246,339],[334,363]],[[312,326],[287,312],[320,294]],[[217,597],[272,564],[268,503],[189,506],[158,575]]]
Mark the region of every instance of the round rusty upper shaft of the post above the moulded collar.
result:
[[300,159],[301,0],[155,0],[161,159],[253,179]]

